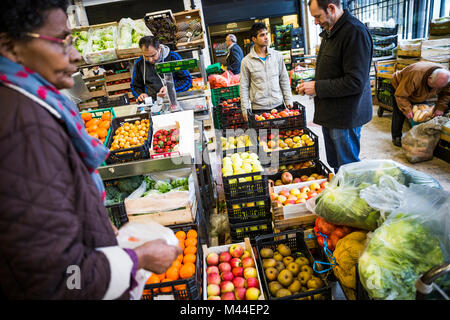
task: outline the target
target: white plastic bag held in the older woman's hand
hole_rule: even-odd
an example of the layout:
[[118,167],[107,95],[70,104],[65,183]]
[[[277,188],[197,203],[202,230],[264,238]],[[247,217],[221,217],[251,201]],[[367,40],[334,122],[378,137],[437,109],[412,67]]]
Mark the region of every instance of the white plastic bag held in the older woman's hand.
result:
[[[178,246],[178,239],[174,232],[156,222],[128,222],[119,229],[117,242],[122,248],[134,249],[147,241],[157,239],[166,240],[168,245]],[[132,300],[140,300],[145,282],[152,275],[152,272],[139,269],[136,272],[137,287],[130,292]]]

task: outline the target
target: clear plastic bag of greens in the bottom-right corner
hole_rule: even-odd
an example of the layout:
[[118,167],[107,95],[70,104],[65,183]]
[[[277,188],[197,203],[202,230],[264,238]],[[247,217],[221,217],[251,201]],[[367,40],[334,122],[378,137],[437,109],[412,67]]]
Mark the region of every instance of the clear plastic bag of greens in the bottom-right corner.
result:
[[449,261],[449,212],[449,192],[414,184],[407,188],[398,208],[369,234],[358,261],[361,283],[371,298],[414,299],[420,275]]

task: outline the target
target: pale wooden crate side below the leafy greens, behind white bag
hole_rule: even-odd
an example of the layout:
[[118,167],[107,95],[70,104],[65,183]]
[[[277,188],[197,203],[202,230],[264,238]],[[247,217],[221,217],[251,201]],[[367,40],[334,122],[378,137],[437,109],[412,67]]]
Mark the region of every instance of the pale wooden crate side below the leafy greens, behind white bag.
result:
[[142,223],[153,221],[162,224],[163,226],[171,226],[176,224],[193,223],[195,221],[196,215],[197,204],[194,203],[194,206],[192,208],[189,204],[187,204],[186,208],[180,210],[141,215],[128,215],[128,220]]

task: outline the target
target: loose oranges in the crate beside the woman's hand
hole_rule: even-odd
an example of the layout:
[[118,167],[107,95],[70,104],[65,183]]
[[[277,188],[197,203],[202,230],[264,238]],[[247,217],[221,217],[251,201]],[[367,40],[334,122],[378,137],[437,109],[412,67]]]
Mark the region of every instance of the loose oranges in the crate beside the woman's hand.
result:
[[[197,242],[198,234],[194,229],[190,229],[188,232],[178,231],[175,233],[178,238],[179,246],[183,249],[183,253],[180,254],[172,265],[166,270],[165,273],[155,274],[152,273],[148,278],[146,284],[162,283],[175,281],[179,279],[189,279],[195,274],[195,262],[197,260]],[[186,285],[176,285],[175,290],[186,290]],[[152,290],[144,290],[145,295],[151,295]],[[168,285],[160,289],[153,289],[154,293],[158,292],[171,292],[172,286]]]

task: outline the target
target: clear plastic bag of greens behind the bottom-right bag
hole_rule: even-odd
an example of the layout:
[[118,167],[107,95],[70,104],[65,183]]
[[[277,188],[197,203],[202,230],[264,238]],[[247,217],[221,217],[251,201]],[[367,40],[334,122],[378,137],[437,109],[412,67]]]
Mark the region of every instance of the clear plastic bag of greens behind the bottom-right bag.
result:
[[361,193],[371,186],[382,186],[389,193],[402,192],[396,183],[440,188],[432,177],[395,161],[364,160],[342,166],[327,188],[306,205],[308,210],[328,222],[373,231],[383,223],[389,210],[383,208],[380,212],[377,207],[370,206]]

